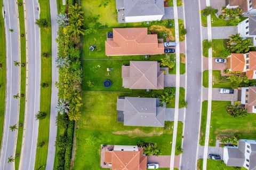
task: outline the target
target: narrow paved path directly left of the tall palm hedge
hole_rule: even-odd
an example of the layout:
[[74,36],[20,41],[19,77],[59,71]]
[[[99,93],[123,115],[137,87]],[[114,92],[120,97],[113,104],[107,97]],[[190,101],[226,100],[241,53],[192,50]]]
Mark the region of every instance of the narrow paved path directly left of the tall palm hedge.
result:
[[56,23],[57,1],[50,1],[51,11],[51,25],[52,25],[52,96],[51,96],[51,117],[50,117],[50,134],[49,134],[49,145],[47,153],[46,170],[52,170],[54,165],[55,156],[55,139],[57,136],[56,117],[58,115],[55,106],[58,102],[58,88],[54,85],[59,79],[59,70],[55,65],[55,59],[58,56],[58,44],[55,41],[57,38],[57,31],[59,29]]

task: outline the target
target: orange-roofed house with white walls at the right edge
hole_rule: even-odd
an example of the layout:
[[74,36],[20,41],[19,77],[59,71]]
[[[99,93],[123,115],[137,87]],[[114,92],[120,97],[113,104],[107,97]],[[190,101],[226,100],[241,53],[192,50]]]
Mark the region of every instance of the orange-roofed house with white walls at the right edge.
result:
[[256,78],[256,52],[232,53],[227,57],[227,67],[229,71],[246,72],[248,79]]

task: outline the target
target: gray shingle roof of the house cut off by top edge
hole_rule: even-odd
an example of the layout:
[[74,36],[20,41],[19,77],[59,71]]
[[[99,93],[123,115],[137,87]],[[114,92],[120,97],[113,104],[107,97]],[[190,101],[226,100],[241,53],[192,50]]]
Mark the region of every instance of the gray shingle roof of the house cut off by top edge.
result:
[[122,6],[125,17],[164,14],[164,0],[116,0],[117,9]]

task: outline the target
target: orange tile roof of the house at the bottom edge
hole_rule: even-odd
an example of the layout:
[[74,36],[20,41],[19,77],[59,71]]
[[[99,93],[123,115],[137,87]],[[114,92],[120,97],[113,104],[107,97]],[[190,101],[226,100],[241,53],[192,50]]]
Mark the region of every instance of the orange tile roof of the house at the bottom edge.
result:
[[143,156],[142,148],[139,148],[139,151],[107,151],[105,162],[112,164],[112,170],[146,170],[147,167],[147,157]]

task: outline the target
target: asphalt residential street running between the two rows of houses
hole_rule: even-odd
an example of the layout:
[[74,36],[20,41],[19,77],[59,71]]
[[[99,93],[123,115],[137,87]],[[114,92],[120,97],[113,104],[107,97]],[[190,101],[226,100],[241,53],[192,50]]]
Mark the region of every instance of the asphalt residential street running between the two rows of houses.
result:
[[198,0],[185,0],[187,102],[181,169],[196,169],[201,109],[201,34]]

